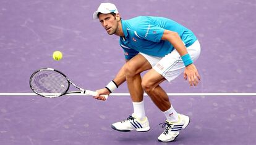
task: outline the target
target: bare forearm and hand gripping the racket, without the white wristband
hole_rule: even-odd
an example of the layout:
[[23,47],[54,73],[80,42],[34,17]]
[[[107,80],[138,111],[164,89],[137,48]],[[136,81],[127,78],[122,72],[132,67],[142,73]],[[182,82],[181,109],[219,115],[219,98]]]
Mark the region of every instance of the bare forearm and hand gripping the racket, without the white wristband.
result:
[[[126,62],[129,60],[126,60]],[[117,86],[120,86],[122,83],[126,81],[126,75],[125,75],[125,69],[124,66],[126,63],[122,66],[122,68],[117,72],[116,77],[114,77],[114,82],[117,84]],[[111,92],[107,88],[101,88],[100,90],[96,90],[98,92],[98,96],[94,96],[93,98],[97,100],[105,101],[106,98],[101,95],[109,95]]]

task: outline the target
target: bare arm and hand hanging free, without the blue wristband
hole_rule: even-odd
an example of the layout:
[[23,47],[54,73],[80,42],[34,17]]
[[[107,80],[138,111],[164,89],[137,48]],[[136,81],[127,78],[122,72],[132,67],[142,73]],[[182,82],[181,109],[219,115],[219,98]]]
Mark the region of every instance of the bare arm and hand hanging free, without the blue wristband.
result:
[[[165,29],[161,40],[169,41],[181,56],[184,56],[188,53],[186,46],[181,40],[181,37],[179,37],[179,34],[174,31]],[[198,84],[200,76],[198,74],[197,68],[195,68],[193,63],[186,66],[184,71],[184,79],[188,79],[191,86],[196,86]]]

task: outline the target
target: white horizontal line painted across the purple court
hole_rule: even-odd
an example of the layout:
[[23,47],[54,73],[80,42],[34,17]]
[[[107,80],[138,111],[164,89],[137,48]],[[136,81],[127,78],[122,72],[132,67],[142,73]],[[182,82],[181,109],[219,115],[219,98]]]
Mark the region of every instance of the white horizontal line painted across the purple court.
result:
[[[83,94],[69,94],[83,96]],[[129,96],[129,93],[111,93],[111,96]],[[168,96],[256,96],[256,93],[167,93]],[[35,93],[0,93],[0,96],[37,96]],[[147,96],[144,93],[144,96]]]

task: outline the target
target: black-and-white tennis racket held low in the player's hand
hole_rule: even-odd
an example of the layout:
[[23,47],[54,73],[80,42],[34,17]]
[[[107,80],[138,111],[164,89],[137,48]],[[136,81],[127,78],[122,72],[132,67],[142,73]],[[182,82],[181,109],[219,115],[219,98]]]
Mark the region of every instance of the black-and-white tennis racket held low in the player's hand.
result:
[[[70,84],[72,84],[75,88],[78,88],[79,91],[68,92]],[[70,93],[82,93],[91,96],[98,95],[97,92],[78,87],[71,82],[65,74],[53,68],[43,68],[33,72],[32,76],[30,77],[30,88],[37,95],[46,98],[55,98]],[[101,96],[104,96],[106,99],[108,98],[108,95]]]

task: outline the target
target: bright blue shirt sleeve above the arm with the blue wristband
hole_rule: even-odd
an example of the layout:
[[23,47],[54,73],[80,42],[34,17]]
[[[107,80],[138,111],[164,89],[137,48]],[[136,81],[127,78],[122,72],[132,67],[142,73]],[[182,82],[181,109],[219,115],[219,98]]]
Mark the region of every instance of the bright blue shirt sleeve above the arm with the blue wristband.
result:
[[164,33],[164,28],[151,25],[148,22],[142,22],[137,26],[137,34],[148,41],[160,42]]

